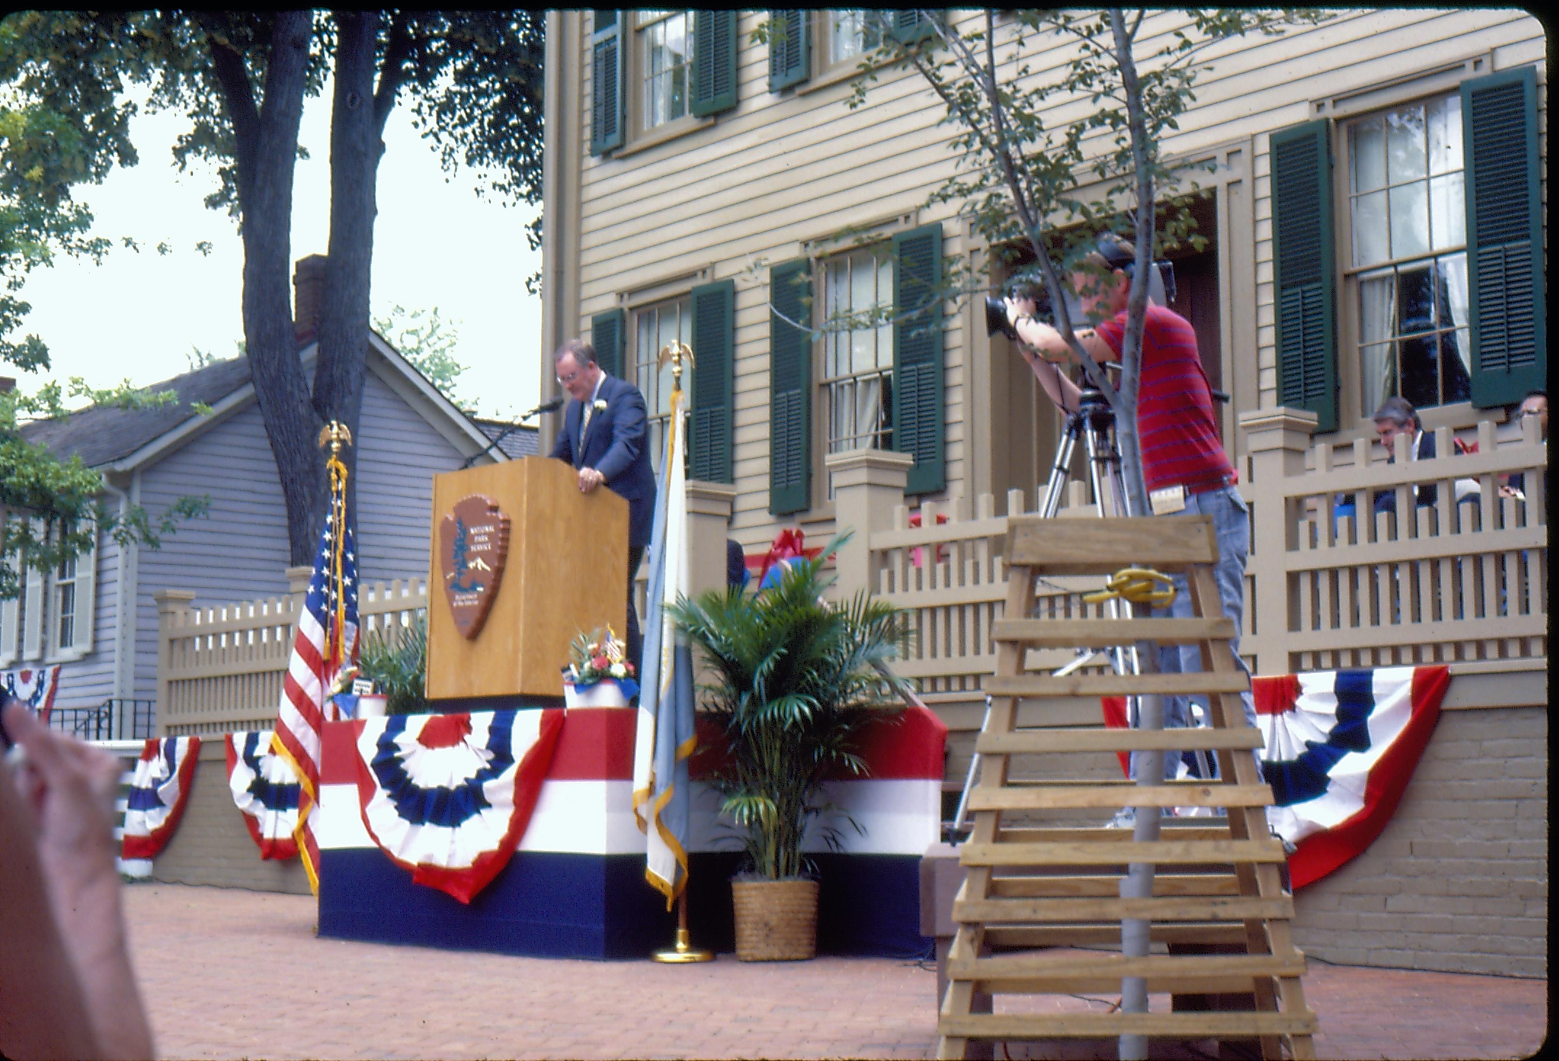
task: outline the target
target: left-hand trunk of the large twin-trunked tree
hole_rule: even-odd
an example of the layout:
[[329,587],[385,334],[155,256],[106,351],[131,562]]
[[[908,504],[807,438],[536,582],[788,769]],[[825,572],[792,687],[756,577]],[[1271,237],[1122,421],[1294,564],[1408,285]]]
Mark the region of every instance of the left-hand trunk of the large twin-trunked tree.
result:
[[[309,62],[310,14],[276,16],[265,70],[263,103],[253,142],[237,151],[243,213],[243,340],[254,394],[287,503],[287,541],[293,564],[313,559],[324,500],[324,461],[315,449],[318,421],[310,416],[309,380],[298,363],[292,321],[292,199]],[[220,45],[218,45],[220,47]],[[220,62],[220,59],[218,59]],[[245,87],[229,87],[228,106],[240,139],[237,111],[253,100]],[[245,165],[248,164],[248,165]]]

